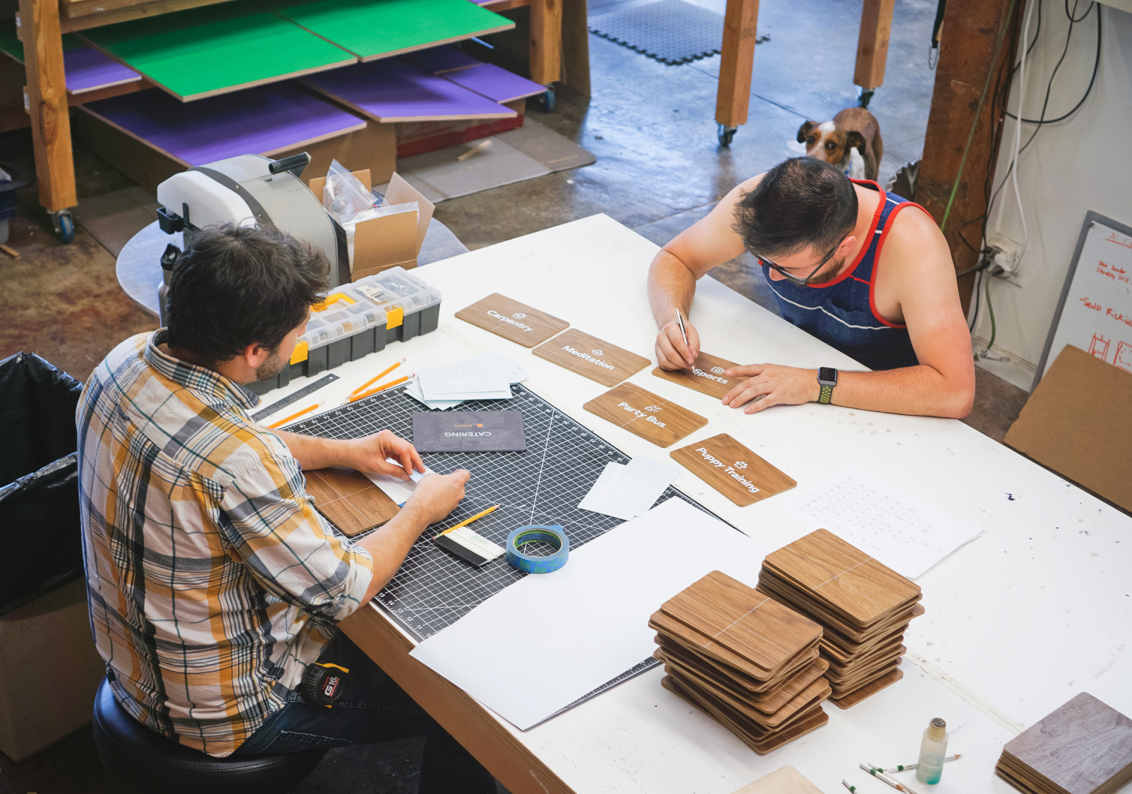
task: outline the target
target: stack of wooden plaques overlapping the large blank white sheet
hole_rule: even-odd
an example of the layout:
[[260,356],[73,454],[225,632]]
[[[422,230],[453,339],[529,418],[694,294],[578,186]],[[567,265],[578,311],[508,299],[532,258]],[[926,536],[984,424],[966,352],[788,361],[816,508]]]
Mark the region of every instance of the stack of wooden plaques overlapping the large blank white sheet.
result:
[[760,756],[824,725],[822,627],[712,571],[649,620],[661,684]]

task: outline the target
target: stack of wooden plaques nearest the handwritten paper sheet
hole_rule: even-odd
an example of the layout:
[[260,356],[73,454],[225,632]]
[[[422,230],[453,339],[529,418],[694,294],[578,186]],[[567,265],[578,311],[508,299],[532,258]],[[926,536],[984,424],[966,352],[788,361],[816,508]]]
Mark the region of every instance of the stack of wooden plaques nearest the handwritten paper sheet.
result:
[[895,683],[920,588],[827,529],[763,560],[758,590],[822,625],[831,702],[849,708]]

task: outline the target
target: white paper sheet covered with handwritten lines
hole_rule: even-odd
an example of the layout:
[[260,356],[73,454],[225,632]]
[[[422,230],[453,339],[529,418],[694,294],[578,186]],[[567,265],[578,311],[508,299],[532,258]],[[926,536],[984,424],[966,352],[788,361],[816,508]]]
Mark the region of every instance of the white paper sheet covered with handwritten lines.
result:
[[829,529],[909,579],[983,532],[856,466],[787,494],[779,508],[814,529]]

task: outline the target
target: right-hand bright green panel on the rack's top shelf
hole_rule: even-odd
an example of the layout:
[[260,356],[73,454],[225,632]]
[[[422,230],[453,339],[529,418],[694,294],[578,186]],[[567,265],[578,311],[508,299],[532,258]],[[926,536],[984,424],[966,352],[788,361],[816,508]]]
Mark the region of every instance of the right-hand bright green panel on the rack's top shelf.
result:
[[468,0],[320,0],[274,8],[366,61],[515,26]]

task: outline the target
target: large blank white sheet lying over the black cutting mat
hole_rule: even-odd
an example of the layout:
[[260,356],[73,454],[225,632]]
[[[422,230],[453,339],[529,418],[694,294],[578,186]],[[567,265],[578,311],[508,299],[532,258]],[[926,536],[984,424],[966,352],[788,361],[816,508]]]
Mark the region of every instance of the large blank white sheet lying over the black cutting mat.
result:
[[497,593],[411,655],[525,731],[651,656],[649,615],[667,599],[713,570],[754,586],[765,555],[669,499],[572,551],[554,573]]

